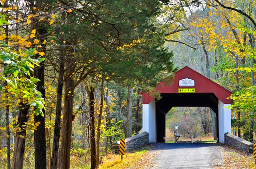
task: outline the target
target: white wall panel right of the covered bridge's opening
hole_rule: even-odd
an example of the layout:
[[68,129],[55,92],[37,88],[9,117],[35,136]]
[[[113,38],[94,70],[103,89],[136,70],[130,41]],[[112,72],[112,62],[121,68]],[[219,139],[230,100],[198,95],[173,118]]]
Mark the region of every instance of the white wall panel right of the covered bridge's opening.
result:
[[225,133],[231,133],[231,109],[225,108],[226,106],[230,106],[230,104],[224,104],[218,100],[218,135],[220,143],[225,142]]

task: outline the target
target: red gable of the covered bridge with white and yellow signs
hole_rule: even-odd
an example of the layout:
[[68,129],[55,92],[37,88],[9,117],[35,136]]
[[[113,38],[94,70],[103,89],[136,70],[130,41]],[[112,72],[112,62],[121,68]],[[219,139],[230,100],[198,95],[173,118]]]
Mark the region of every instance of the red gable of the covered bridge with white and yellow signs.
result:
[[[165,85],[165,83],[158,83],[156,91],[160,91],[161,95],[173,94],[175,100],[185,101],[187,98],[190,100],[203,101],[201,96],[207,95],[207,97],[217,98],[224,104],[230,104],[231,100],[227,99],[230,97],[232,92],[220,86],[219,84],[211,81],[205,76],[201,75],[197,71],[189,67],[184,67],[175,73],[173,83],[171,85]],[[183,91],[183,92],[182,92]],[[183,99],[182,99],[183,98]],[[142,92],[143,104],[149,104],[155,97],[151,97],[149,93]],[[212,99],[216,100],[216,99]],[[195,102],[195,101],[192,101]],[[176,102],[177,104],[177,102]],[[181,105],[182,104],[182,105]],[[192,103],[191,103],[192,104]],[[190,103],[180,103],[176,106],[193,106]]]

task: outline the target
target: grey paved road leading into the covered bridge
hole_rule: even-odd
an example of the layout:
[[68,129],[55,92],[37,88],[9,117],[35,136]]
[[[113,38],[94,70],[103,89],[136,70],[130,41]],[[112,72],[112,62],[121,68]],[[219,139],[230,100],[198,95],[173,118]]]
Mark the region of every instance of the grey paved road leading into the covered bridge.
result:
[[158,155],[153,159],[154,169],[212,169],[223,165],[217,144],[156,143]]

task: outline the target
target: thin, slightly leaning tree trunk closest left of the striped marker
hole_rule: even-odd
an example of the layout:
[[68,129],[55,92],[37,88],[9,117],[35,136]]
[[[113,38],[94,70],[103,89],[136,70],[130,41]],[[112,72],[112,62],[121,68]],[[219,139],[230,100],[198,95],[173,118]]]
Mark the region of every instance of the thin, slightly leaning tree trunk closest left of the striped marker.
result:
[[99,165],[99,141],[100,141],[100,126],[101,126],[101,118],[102,118],[102,111],[103,111],[103,97],[104,97],[104,79],[101,82],[101,95],[100,95],[100,108],[99,108],[99,115],[98,115],[98,126],[97,126],[97,152],[96,152],[96,166],[98,168]]

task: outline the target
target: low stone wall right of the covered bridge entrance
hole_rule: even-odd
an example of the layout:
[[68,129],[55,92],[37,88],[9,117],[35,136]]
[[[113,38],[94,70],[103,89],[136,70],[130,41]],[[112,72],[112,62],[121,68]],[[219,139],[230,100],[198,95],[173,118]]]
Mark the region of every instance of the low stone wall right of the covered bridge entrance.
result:
[[245,152],[253,152],[254,144],[230,133],[225,134],[225,144]]

